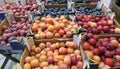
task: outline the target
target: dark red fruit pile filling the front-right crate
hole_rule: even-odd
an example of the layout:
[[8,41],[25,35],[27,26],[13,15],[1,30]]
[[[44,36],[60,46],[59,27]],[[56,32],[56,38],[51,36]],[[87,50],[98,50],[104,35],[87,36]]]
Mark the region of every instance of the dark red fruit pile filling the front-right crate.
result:
[[86,41],[82,43],[88,57],[99,64],[104,63],[108,67],[120,67],[119,37],[88,35]]

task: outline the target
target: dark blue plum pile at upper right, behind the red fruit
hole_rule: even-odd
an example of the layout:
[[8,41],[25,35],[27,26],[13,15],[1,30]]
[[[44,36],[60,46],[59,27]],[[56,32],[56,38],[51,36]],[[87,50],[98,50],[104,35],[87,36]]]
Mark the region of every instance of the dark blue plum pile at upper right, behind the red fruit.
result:
[[89,8],[87,6],[82,7],[82,6],[76,6],[75,7],[76,11],[80,11],[81,14],[85,15],[94,15],[94,16],[104,16],[104,12],[102,9],[97,9],[97,8]]

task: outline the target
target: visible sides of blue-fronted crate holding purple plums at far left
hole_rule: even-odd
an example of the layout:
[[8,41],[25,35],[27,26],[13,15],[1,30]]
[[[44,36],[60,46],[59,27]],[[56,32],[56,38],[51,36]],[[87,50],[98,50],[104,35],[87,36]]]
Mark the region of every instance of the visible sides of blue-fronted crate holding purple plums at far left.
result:
[[[2,23],[0,24],[0,35],[3,34],[3,29],[2,27],[6,25],[6,26],[10,26],[7,22],[7,19],[4,19],[2,21]],[[22,51],[24,50],[24,39],[20,39],[18,40],[12,40],[10,43],[6,44],[6,45],[0,45],[0,53],[22,53]]]

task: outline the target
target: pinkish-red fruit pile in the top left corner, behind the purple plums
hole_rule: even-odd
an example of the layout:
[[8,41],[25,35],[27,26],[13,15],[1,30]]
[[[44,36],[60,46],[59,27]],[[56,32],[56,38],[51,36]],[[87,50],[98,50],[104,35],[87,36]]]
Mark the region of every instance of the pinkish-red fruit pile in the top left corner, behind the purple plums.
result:
[[12,11],[15,16],[28,16],[29,12],[37,12],[38,7],[39,6],[36,4],[25,6],[20,6],[17,4],[5,4],[5,6],[3,6],[2,8],[4,10]]

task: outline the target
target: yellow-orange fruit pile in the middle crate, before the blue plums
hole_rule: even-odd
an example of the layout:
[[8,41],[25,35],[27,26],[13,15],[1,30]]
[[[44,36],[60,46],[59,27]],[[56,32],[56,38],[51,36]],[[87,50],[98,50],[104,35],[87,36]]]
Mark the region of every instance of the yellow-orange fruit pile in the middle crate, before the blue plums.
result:
[[36,39],[70,38],[77,30],[78,25],[64,16],[60,18],[43,17],[41,20],[35,20],[32,26],[32,33]]

